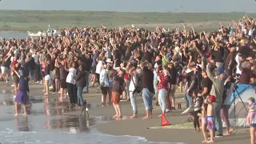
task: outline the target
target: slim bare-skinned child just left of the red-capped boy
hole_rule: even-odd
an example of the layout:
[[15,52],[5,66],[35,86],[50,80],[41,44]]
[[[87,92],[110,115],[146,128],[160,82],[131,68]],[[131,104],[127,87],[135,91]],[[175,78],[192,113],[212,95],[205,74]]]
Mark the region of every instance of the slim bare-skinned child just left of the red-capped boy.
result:
[[207,142],[207,130],[206,130],[206,127],[207,127],[207,104],[204,103],[202,105],[202,114],[201,114],[201,117],[202,117],[202,135],[203,135],[203,138],[204,138],[204,141],[202,142]]

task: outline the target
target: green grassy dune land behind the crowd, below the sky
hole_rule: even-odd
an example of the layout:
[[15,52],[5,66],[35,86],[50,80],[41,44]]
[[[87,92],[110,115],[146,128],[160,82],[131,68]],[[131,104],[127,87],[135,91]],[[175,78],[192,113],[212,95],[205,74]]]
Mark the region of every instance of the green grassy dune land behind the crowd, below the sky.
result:
[[[38,31],[47,26],[143,26],[153,29],[156,26],[173,28],[175,23],[190,23],[197,30],[215,30],[216,22],[238,20],[245,13],[122,13],[97,11],[39,11],[39,10],[0,10],[1,31]],[[255,14],[248,14],[256,17]],[[196,23],[193,25],[194,22]],[[204,22],[208,22],[207,25]],[[225,23],[225,24],[226,24]],[[101,25],[102,24],[102,25]]]

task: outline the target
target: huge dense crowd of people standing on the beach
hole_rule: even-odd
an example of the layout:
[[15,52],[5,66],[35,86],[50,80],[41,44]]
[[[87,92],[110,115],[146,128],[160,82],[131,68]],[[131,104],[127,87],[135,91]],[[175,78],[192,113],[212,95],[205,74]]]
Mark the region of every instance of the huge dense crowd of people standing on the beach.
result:
[[[130,100],[130,118],[137,118],[139,94],[146,108],[144,119],[152,118],[154,98],[167,114],[175,110],[175,90],[180,87],[186,90],[186,107],[194,108],[195,131],[200,130],[201,116],[202,128],[208,125],[210,130],[211,139],[205,142],[214,142],[214,136],[233,130],[227,113],[234,82],[253,84],[256,78],[256,19],[245,16],[232,22],[210,33],[185,25],[181,31],[86,26],[64,28],[61,36],[2,38],[0,79],[13,79],[17,104],[26,104],[29,89],[24,83],[30,80],[43,83],[46,96],[60,93],[61,100],[68,95],[69,107],[78,109],[83,106],[82,93],[98,86],[102,106],[113,105],[114,118],[122,118],[121,100]],[[255,131],[254,121],[249,124]]]

